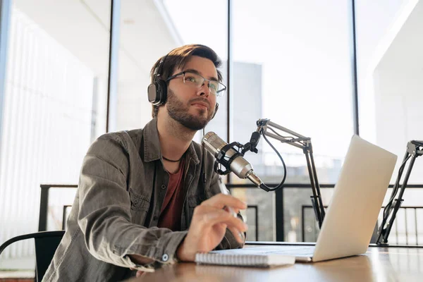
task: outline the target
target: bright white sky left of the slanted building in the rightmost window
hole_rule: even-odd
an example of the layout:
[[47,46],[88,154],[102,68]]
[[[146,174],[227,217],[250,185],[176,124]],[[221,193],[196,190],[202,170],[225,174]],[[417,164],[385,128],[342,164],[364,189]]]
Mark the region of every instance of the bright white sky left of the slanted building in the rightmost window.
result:
[[373,73],[418,0],[356,0],[360,135],[376,142]]

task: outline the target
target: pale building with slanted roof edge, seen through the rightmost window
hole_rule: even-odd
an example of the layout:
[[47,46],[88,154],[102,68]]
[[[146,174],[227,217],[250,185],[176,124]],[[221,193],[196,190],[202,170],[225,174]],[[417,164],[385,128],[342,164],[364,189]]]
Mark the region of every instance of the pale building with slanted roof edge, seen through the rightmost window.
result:
[[[423,1],[419,1],[373,75],[376,143],[398,154],[397,170],[407,142],[423,140],[422,30]],[[396,179],[397,170],[391,182]],[[419,157],[409,183],[423,183],[422,171],[423,162]]]

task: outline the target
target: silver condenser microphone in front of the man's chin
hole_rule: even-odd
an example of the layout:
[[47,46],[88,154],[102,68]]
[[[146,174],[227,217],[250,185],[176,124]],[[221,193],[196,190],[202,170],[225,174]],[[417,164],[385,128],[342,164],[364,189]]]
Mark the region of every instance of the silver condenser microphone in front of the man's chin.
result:
[[[221,137],[216,135],[216,133],[210,131],[201,140],[204,148],[207,149],[212,155],[217,159],[217,156],[221,149],[228,145],[225,141],[221,140]],[[236,154],[235,149],[231,148],[225,154],[225,159],[231,159],[231,157]],[[218,160],[219,161],[219,160]],[[235,173],[239,178],[248,178],[257,185],[258,187],[263,184],[263,181],[254,173],[252,165],[246,161],[242,156],[235,157],[230,164],[229,169]]]

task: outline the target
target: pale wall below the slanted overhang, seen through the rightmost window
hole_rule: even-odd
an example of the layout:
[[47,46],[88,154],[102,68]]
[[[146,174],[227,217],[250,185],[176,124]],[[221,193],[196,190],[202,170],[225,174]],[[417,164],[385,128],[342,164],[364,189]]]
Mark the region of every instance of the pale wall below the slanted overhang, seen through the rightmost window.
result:
[[[422,73],[378,68],[375,71],[374,81],[376,142],[398,154],[399,161],[405,154],[408,141],[423,140]],[[420,159],[417,159],[415,166],[418,166],[419,163]],[[422,170],[420,169],[420,171]],[[422,173],[417,173],[417,171],[415,173],[416,176],[420,175],[420,180],[423,180]]]

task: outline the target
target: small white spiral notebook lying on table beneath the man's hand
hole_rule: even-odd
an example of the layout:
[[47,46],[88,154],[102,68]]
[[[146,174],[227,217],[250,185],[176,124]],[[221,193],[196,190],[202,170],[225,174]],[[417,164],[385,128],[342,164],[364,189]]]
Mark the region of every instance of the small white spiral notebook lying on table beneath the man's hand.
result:
[[219,250],[197,254],[195,255],[195,262],[197,262],[197,264],[271,267],[294,264],[295,256],[276,254],[237,254],[230,250]]

